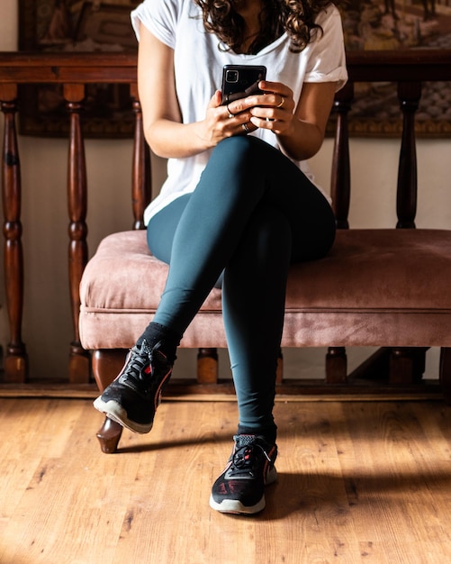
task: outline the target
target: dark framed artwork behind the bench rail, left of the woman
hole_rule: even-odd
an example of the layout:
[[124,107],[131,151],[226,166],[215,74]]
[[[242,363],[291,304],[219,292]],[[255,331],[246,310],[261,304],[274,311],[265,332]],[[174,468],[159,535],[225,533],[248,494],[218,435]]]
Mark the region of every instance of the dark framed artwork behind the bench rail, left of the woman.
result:
[[[136,51],[130,13],[140,0],[19,0],[19,49]],[[23,135],[67,136],[68,114],[59,85],[23,86]],[[128,85],[86,86],[82,121],[88,138],[131,137],[134,117]]]

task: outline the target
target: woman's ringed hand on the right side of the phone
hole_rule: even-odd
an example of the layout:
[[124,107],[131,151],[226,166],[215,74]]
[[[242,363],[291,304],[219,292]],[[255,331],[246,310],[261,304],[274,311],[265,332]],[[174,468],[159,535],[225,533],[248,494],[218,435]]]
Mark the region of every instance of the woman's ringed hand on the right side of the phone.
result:
[[293,90],[281,82],[267,80],[262,80],[258,86],[265,94],[247,98],[249,102],[249,98],[256,98],[250,108],[250,122],[276,134],[288,133],[295,119]]

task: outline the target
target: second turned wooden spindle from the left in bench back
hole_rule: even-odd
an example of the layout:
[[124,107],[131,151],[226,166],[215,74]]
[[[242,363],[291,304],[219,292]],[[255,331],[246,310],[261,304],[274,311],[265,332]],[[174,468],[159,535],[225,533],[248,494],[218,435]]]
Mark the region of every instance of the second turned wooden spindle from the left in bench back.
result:
[[68,150],[68,214],[69,214],[69,286],[74,341],[70,343],[69,381],[84,383],[89,381],[89,354],[80,343],[78,317],[80,310],[79,285],[87,262],[87,186],[85,142],[81,131],[80,113],[85,97],[84,85],[64,85],[69,119]]

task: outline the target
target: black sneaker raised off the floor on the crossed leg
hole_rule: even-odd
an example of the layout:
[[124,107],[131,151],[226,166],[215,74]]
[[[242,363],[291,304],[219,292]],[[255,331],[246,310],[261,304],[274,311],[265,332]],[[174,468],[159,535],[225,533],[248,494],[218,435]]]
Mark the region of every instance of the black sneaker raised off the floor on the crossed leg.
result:
[[135,432],[149,432],[161,400],[161,392],[172,373],[172,363],[146,341],[129,352],[119,376],[94,402],[95,409]]

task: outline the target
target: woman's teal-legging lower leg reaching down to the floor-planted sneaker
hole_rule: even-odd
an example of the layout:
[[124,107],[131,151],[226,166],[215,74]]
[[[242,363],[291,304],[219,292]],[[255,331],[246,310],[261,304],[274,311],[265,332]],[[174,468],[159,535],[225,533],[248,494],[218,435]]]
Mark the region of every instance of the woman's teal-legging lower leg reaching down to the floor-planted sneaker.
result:
[[292,233],[279,210],[259,205],[224,272],[222,312],[239,406],[238,433],[275,443],[275,371],[284,323]]

